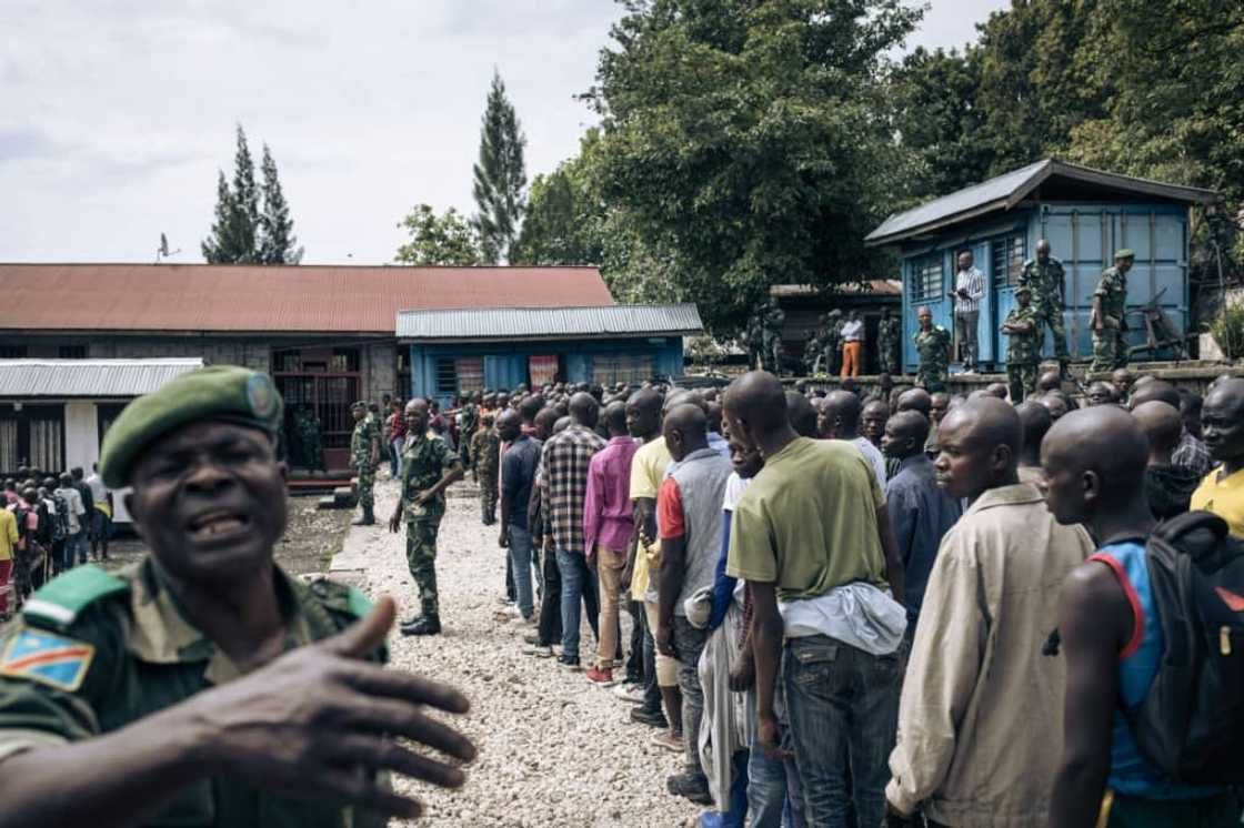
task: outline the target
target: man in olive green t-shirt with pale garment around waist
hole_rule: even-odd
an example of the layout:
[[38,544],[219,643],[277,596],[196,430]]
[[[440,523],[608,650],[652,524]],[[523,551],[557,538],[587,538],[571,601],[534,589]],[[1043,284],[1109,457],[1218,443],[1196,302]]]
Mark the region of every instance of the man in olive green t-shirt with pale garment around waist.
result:
[[[791,429],[785,392],[774,375],[753,372],[738,379],[726,390],[724,409],[731,438],[765,459],[734,510],[726,558],[726,573],[748,582],[755,610],[758,747],[778,747],[774,690],[781,665],[809,824],[841,824],[853,807],[860,824],[878,826],[898,714],[902,629],[897,639],[888,637],[893,649],[867,651],[831,637],[832,610],[822,615],[821,608],[830,593],[845,588],[881,602],[889,617],[898,613],[899,627],[906,624],[901,604],[883,592],[903,594],[884,496],[857,448],[810,440]],[[787,630],[781,610],[791,605],[807,612],[800,613],[799,629]]]

